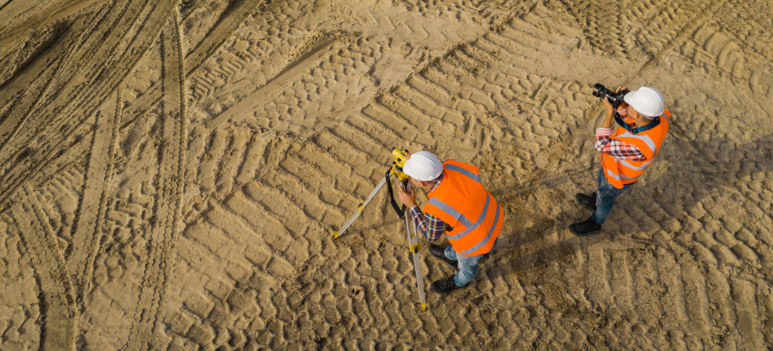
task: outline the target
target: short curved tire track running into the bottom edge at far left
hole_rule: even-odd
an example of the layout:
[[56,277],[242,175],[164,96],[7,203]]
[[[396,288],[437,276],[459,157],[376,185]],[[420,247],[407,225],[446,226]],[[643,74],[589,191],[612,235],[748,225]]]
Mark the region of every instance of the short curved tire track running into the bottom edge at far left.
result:
[[40,349],[74,349],[78,312],[70,273],[56,245],[56,235],[29,186],[22,187],[19,204],[12,207],[11,216],[28,248],[40,285]]

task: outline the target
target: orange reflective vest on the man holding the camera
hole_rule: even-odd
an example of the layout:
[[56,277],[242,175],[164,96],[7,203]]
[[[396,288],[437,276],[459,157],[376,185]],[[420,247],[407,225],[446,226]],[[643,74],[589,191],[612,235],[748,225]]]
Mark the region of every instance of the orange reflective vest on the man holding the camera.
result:
[[[625,128],[618,128],[612,135],[612,139],[638,147],[638,150],[641,150],[647,159],[643,161],[618,160],[608,154],[601,154],[601,167],[604,167],[604,174],[606,174],[609,184],[622,189],[625,184],[635,182],[656,159],[660,146],[666,139],[666,133],[669,132],[671,113],[663,111],[659,118],[660,123],[652,129],[633,134]],[[631,117],[626,117],[626,120],[632,122]]]

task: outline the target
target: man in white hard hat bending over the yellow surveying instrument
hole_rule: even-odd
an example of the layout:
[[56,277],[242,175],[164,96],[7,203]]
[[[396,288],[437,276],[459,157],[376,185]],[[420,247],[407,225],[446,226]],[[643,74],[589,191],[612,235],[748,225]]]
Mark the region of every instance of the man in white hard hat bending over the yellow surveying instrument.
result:
[[455,160],[441,163],[427,151],[406,158],[404,173],[414,186],[427,191],[429,202],[422,213],[410,187],[399,189],[400,200],[428,241],[438,241],[445,234],[451,246],[431,244],[429,251],[459,271],[432,282],[431,288],[440,293],[464,288],[478,273],[478,263],[494,251],[505,213],[481,184],[477,167]]

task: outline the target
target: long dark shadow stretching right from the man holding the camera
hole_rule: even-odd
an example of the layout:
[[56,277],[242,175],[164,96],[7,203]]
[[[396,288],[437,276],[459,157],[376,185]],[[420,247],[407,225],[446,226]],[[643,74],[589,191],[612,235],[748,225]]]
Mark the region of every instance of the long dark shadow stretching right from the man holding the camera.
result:
[[[767,209],[754,212],[769,212],[771,199],[761,197],[770,197],[773,190],[769,188],[773,181],[773,135],[764,135],[748,143],[735,143],[725,138],[691,141],[675,134],[664,147],[662,158],[656,160],[661,165],[654,167],[655,172],[645,173],[642,184],[632,187],[628,196],[624,194],[618,198],[613,213],[624,211],[631,218],[642,218],[643,213],[654,223],[663,224],[666,217],[682,221],[686,215],[700,216],[707,197],[737,195],[758,206],[767,201]],[[612,216],[610,218],[614,220]],[[649,227],[652,225],[650,223]],[[648,225],[630,229],[620,225],[612,227],[602,230],[624,235],[629,231],[652,230],[646,228]],[[673,225],[663,229],[674,232],[679,227]]]

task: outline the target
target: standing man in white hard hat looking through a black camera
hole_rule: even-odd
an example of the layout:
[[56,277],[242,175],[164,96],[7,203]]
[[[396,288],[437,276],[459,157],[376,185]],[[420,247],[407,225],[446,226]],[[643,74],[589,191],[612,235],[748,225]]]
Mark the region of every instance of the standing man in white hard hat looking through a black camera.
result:
[[[625,87],[617,89],[627,89]],[[665,109],[662,94],[642,86],[625,94],[625,103],[615,107],[604,97],[607,116],[596,129],[596,150],[601,152],[598,170],[598,190],[591,195],[577,194],[577,203],[594,211],[591,218],[570,224],[569,230],[577,236],[601,231],[615,199],[644,174],[661,150],[669,131],[671,113]],[[612,120],[621,127],[612,133]]]

